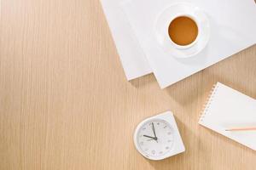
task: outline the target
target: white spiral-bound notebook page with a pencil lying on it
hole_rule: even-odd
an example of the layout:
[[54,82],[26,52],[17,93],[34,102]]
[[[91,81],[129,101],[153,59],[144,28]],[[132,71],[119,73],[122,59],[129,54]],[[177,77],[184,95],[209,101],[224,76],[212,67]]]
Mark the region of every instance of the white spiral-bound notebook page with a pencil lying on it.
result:
[[225,131],[256,127],[256,99],[218,82],[205,105],[199,124],[256,150],[256,131]]

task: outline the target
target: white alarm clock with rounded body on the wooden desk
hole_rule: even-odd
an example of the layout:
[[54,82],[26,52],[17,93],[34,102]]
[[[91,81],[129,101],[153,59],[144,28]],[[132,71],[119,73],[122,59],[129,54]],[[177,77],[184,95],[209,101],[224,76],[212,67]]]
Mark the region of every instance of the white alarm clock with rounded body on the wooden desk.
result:
[[162,160],[185,151],[171,111],[145,119],[137,125],[134,144],[150,160]]

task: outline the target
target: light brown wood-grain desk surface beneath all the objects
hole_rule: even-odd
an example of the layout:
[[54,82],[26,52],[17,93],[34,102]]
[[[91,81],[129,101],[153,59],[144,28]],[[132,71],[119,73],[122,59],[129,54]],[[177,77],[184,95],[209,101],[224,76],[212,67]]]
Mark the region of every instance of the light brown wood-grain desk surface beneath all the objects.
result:
[[[212,84],[256,98],[256,46],[161,90],[127,82],[95,0],[2,0],[0,169],[255,169],[256,153],[197,124]],[[137,123],[172,110],[186,152],[148,161]]]

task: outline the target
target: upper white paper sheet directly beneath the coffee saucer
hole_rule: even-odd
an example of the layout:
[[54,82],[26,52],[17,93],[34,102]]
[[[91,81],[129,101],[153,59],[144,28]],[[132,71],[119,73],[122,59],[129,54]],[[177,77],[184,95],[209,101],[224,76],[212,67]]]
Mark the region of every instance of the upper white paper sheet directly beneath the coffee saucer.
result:
[[[206,14],[211,36],[200,54],[177,59],[159,48],[154,25],[159,14],[173,3],[192,3]],[[253,0],[130,0],[122,4],[149,65],[161,88],[189,77],[256,42],[256,5]]]

